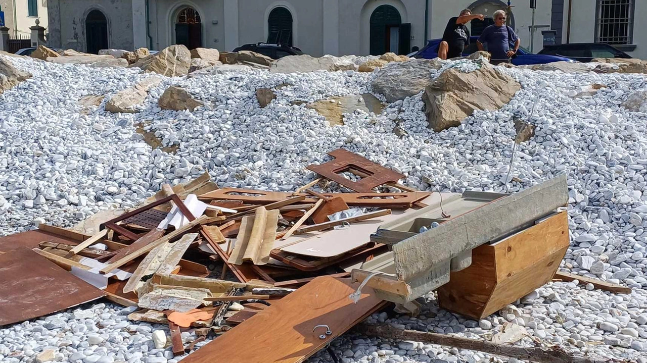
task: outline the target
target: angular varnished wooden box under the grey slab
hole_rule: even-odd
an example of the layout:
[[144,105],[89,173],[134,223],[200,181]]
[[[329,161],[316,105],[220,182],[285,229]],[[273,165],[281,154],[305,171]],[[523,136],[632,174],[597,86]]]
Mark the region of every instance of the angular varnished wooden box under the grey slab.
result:
[[480,319],[549,282],[569,247],[567,213],[557,213],[472,250],[472,265],[439,287],[439,306]]

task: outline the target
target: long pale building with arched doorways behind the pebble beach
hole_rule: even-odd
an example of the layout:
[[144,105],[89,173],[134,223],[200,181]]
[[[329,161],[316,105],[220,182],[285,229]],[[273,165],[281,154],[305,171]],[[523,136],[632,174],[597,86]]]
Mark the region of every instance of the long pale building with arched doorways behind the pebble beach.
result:
[[[538,0],[532,24],[528,1],[501,0],[48,0],[50,45],[95,52],[100,48],[159,50],[173,44],[232,50],[258,42],[287,43],[312,56],[407,54],[443,35],[463,8],[492,16],[512,3],[510,25],[522,45],[543,47],[543,30],[565,41],[571,4],[571,41],[597,39],[595,10],[609,0]],[[636,11],[645,10],[635,0]],[[65,14],[61,16],[61,14]],[[604,13],[607,14],[607,13]],[[606,16],[603,14],[603,17]],[[586,19],[586,21],[585,21]],[[602,19],[604,21],[604,19]],[[580,26],[580,23],[588,24]],[[472,21],[472,34],[488,25]],[[633,27],[633,23],[631,23]],[[531,39],[532,34],[532,39]],[[633,36],[638,43],[640,37]],[[640,53],[640,47],[635,51]]]

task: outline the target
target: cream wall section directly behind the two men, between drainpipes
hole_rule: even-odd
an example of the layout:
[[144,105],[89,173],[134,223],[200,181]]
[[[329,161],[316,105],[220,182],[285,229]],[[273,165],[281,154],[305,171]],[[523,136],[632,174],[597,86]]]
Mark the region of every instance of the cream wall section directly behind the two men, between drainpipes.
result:
[[[592,1],[592,0],[581,0]],[[430,39],[437,39],[443,37],[444,28],[447,25],[448,19],[453,16],[458,16],[461,10],[471,8],[475,3],[474,0],[452,0],[452,1],[432,1],[432,24]],[[498,3],[493,1],[492,3]],[[507,3],[502,1],[501,3]],[[531,46],[531,25],[532,25],[532,9],[529,8],[528,1],[512,1],[512,14],[514,15],[514,31],[521,38],[521,45],[530,49]],[[499,3],[500,4],[500,3]],[[505,4],[504,4],[505,5]],[[487,9],[487,10],[486,10]],[[494,5],[481,4],[477,6],[476,10],[482,10],[483,15],[491,17],[492,14],[498,10],[499,7]],[[549,30],[551,25],[551,0],[537,0],[537,8],[535,9],[534,18],[534,52],[538,52],[543,48],[542,30]],[[545,26],[545,27],[541,27]]]

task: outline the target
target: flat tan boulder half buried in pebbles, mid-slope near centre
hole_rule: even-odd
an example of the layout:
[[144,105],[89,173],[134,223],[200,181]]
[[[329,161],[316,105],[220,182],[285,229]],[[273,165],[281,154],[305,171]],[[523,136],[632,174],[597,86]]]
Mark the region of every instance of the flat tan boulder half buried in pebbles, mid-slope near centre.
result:
[[344,114],[352,114],[355,110],[382,113],[382,103],[369,93],[321,99],[309,103],[306,107],[318,112],[330,125],[344,125]]

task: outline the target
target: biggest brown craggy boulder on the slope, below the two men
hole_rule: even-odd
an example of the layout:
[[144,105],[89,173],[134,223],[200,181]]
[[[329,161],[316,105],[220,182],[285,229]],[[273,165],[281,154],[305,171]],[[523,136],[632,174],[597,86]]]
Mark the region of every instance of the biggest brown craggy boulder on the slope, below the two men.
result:
[[474,110],[498,110],[520,89],[514,78],[487,62],[474,72],[445,70],[422,96],[429,127],[439,132],[460,125]]

